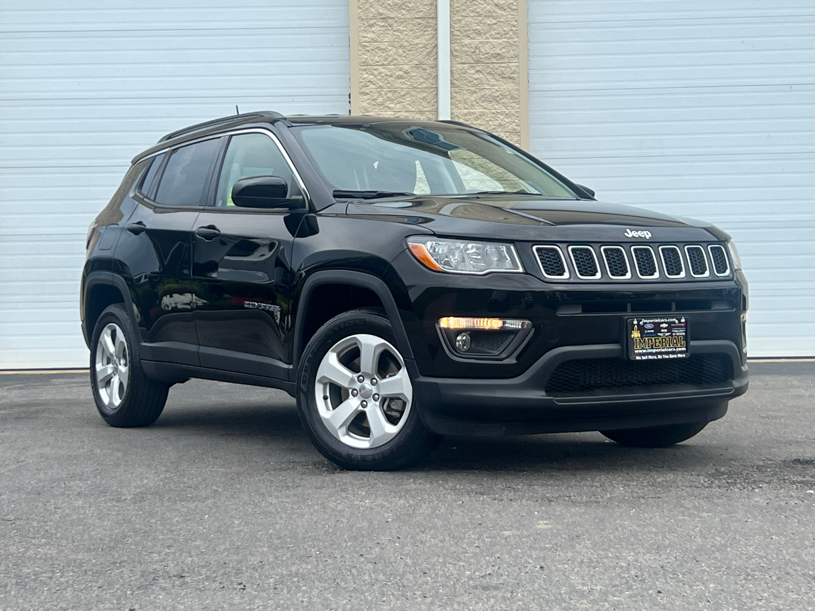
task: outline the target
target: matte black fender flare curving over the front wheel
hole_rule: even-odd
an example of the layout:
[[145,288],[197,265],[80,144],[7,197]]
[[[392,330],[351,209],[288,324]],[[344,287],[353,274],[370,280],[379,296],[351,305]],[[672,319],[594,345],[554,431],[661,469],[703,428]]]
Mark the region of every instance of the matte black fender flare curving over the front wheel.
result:
[[375,292],[385,306],[385,313],[388,314],[390,323],[394,327],[397,348],[402,353],[403,358],[413,359],[413,352],[410,341],[407,339],[402,317],[399,316],[399,308],[396,306],[394,296],[391,294],[385,281],[375,275],[366,274],[363,271],[354,270],[323,270],[315,271],[303,284],[300,299],[297,303],[297,319],[294,323],[294,345],[293,345],[293,375],[296,375],[297,366],[300,363],[300,355],[303,350],[303,326],[306,319],[306,308],[308,307],[311,293],[314,289],[323,284],[350,284],[359,288],[367,288]]

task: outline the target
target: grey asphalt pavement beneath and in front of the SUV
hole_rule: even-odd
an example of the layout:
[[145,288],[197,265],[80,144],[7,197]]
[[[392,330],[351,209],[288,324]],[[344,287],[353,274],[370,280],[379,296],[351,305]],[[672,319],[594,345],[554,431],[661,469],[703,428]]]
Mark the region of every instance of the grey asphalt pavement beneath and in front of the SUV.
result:
[[681,445],[447,437],[346,472],[285,393],[191,380],[112,429],[0,375],[0,609],[815,609],[815,363]]

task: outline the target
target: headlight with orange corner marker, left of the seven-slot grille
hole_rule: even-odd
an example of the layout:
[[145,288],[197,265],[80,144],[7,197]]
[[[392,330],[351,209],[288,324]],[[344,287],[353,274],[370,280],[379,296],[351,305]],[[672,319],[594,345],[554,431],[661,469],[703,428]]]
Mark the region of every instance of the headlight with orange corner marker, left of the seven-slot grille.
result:
[[454,274],[523,271],[512,244],[421,237],[408,239],[407,246],[422,265],[434,271]]

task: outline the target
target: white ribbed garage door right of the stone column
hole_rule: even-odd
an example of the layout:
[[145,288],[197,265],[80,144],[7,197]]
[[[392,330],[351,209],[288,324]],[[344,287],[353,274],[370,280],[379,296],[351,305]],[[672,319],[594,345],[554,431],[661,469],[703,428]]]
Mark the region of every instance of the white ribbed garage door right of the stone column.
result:
[[529,0],[532,152],[733,235],[751,356],[815,355],[813,75],[812,0]]

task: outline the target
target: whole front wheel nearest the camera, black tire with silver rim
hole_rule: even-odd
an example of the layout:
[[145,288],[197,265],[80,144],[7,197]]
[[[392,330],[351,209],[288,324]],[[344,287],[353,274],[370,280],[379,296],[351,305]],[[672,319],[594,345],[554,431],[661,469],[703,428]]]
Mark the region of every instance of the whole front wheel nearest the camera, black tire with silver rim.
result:
[[344,468],[415,464],[441,437],[421,422],[410,376],[382,310],[340,314],[303,351],[297,407],[319,452]]

